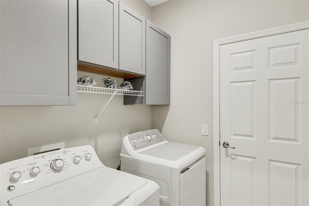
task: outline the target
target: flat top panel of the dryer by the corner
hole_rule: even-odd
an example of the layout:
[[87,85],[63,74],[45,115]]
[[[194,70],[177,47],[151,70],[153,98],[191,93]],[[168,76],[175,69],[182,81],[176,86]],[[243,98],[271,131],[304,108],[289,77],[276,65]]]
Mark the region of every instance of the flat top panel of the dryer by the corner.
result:
[[187,154],[197,150],[198,148],[200,147],[188,144],[180,144],[176,142],[167,142],[139,153],[165,160],[176,161],[181,157],[184,157]]

